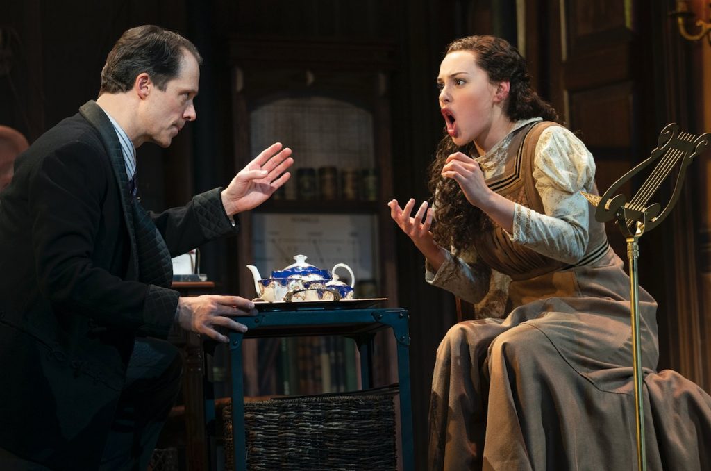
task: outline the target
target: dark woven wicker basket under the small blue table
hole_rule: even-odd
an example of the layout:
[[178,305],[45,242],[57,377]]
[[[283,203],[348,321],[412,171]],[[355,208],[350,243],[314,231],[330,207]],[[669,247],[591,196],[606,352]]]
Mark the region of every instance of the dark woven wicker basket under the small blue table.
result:
[[[223,409],[225,464],[234,470],[232,405]],[[248,470],[396,470],[392,393],[245,403]]]

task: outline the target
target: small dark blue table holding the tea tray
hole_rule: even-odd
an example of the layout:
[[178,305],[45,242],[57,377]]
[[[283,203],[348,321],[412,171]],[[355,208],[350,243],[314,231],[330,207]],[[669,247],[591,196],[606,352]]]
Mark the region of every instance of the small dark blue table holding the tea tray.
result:
[[[279,303],[283,304],[283,303]],[[293,303],[298,305],[299,303]],[[324,304],[326,305],[326,304]],[[338,305],[338,302],[333,303]],[[292,308],[289,308],[292,309]],[[245,443],[245,402],[242,379],[242,341],[245,338],[342,335],[355,340],[360,351],[363,389],[373,386],[373,339],[382,329],[392,329],[397,342],[397,377],[400,388],[400,445],[402,469],[412,470],[412,400],[410,398],[409,314],[405,309],[304,309],[260,312],[255,317],[240,317],[248,328],[245,334],[230,332],[232,369],[232,430],[235,444],[235,470],[247,470]]]

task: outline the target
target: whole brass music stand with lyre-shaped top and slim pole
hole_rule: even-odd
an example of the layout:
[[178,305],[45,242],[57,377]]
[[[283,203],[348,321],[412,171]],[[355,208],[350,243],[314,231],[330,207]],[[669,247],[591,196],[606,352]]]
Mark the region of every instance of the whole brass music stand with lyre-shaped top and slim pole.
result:
[[[606,223],[616,219],[617,226],[627,240],[627,257],[629,258],[630,280],[630,305],[632,324],[632,361],[634,366],[634,398],[637,428],[637,463],[638,469],[646,471],[647,459],[644,442],[644,414],[642,396],[642,361],[641,347],[639,345],[639,281],[637,278],[637,259],[639,257],[638,240],[645,232],[656,228],[671,212],[679,199],[681,187],[684,182],[686,167],[693,158],[706,149],[711,134],[705,133],[699,137],[680,132],[676,123],[667,125],[659,133],[657,148],[649,158],[641,162],[624,174],[602,196],[597,196],[581,191],[582,195],[597,209],[595,219]],[[661,160],[651,171],[650,176],[644,181],[639,191],[629,203],[624,194],[617,194],[620,187],[629,179],[638,174],[646,166],[656,160]],[[671,174],[679,164],[674,192],[662,210],[660,203],[648,204],[652,196],[661,186],[662,182]]]

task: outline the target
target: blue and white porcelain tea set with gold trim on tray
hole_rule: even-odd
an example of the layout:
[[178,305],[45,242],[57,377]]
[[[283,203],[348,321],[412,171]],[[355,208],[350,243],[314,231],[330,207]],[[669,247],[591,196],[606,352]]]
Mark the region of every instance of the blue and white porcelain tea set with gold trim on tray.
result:
[[[255,265],[247,265],[255,279],[257,297],[268,302],[338,301],[352,300],[355,276],[345,263],[336,263],[331,271],[306,263],[306,255],[295,255],[292,263],[283,270],[272,271],[272,276],[262,279]],[[351,285],[338,281],[336,269],[343,268],[351,275]]]

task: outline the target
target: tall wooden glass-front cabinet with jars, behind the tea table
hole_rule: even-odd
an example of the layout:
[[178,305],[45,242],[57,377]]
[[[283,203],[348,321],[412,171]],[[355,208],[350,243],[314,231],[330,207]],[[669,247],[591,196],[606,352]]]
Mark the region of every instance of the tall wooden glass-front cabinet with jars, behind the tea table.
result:
[[[353,283],[356,298],[385,297],[381,306],[397,306],[395,224],[386,205],[392,198],[392,48],[235,38],[230,55],[235,168],[274,142],[294,152],[287,184],[240,215],[240,292],[256,296],[246,265],[268,277],[294,263],[294,255],[306,255],[306,263],[319,268],[348,265],[354,280],[342,270],[338,275]],[[247,342],[247,395],[360,387],[358,351],[350,339]],[[376,349],[394,351],[393,339],[376,339]],[[376,386],[395,377],[391,365],[374,371]]]

